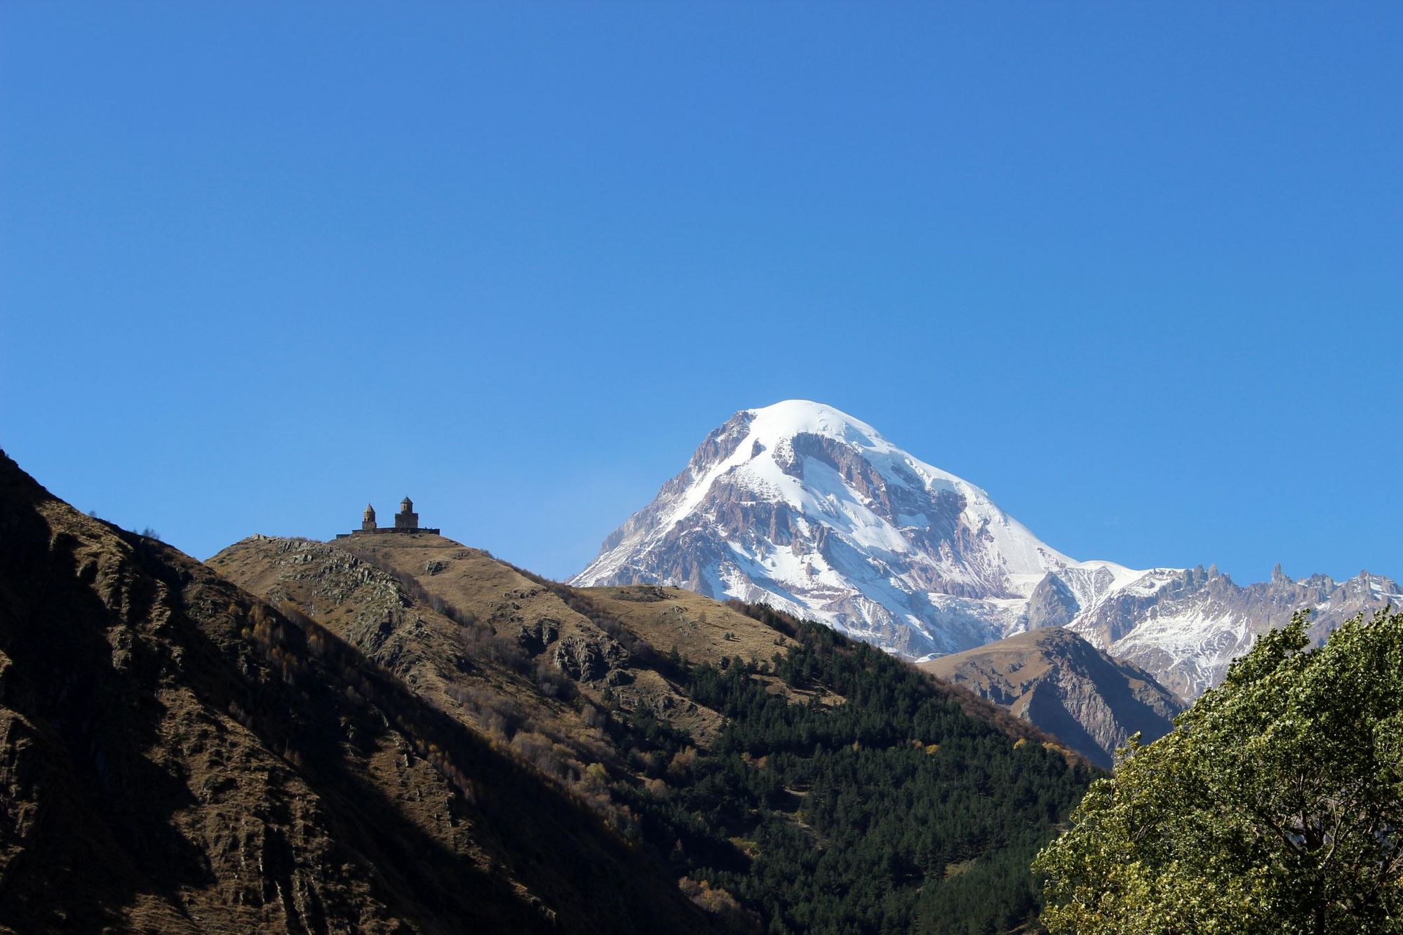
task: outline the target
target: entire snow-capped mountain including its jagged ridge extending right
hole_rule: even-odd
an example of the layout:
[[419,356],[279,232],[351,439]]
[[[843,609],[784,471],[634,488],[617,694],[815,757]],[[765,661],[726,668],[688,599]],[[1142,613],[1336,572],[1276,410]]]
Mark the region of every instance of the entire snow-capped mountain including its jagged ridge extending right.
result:
[[732,416],[571,580],[637,583],[770,604],[911,657],[1068,626],[1184,698],[1288,608],[1324,608],[1333,626],[1403,599],[1368,576],[1239,588],[1215,570],[1078,562],[979,487],[805,400]]

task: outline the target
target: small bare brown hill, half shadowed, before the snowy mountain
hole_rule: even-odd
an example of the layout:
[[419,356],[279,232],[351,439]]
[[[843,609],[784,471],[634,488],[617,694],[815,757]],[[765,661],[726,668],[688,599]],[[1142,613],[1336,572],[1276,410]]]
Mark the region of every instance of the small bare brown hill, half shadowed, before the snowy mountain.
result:
[[1127,737],[1163,737],[1184,708],[1149,672],[1058,626],[941,656],[920,668],[1002,705],[1106,768]]

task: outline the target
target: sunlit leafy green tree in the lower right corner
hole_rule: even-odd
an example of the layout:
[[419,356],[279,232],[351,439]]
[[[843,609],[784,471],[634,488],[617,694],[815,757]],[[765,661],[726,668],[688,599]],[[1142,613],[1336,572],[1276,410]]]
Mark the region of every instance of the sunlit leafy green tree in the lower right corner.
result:
[[1042,851],[1052,932],[1403,932],[1403,614],[1258,637]]

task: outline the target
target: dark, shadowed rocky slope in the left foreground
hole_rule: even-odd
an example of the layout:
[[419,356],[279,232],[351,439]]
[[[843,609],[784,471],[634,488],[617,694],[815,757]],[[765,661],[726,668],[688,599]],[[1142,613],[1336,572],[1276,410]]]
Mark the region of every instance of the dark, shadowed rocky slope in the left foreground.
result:
[[320,626],[0,455],[0,927],[709,931],[673,880]]

